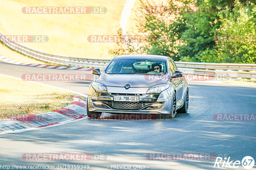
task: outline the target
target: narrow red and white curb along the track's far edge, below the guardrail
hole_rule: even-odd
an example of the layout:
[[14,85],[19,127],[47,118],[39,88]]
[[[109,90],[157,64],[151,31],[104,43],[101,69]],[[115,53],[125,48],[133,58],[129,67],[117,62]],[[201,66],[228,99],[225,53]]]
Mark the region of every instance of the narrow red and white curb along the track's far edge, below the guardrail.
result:
[[84,68],[84,67],[66,67],[66,66],[51,66],[51,65],[43,65],[43,64],[30,64],[23,63],[21,61],[16,61],[12,59],[8,59],[2,55],[0,55],[0,60],[12,64],[17,64],[21,66],[29,66],[29,67],[39,67],[39,68],[53,68],[53,69],[65,69],[65,70],[80,70],[80,71],[91,71],[93,68]]

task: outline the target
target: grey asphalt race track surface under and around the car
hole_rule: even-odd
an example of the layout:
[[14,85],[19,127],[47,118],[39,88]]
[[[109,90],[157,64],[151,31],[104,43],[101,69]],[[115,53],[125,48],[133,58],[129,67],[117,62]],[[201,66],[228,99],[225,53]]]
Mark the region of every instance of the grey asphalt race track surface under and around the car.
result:
[[[90,74],[0,62],[0,74]],[[87,94],[91,81],[41,81]],[[148,153],[210,153],[242,160],[256,157],[256,121],[216,121],[214,114],[255,114],[256,88],[189,81],[189,110],[174,119],[92,120],[40,130],[1,134],[0,162],[5,165],[141,165],[145,169],[214,169],[212,160],[148,160]],[[108,117],[106,114],[105,117]],[[97,160],[23,160],[26,153],[88,153]],[[98,160],[98,155],[102,160]],[[106,160],[104,160],[106,158]],[[223,161],[220,166],[222,166]],[[232,164],[231,164],[232,165]],[[117,166],[116,166],[117,167]],[[123,166],[124,167],[124,166]],[[221,167],[220,167],[221,168]],[[116,168],[117,169],[117,168]],[[122,168],[119,168],[122,169]],[[221,168],[231,169],[231,168]],[[244,169],[242,165],[235,169]],[[256,166],[252,169],[256,169]]]

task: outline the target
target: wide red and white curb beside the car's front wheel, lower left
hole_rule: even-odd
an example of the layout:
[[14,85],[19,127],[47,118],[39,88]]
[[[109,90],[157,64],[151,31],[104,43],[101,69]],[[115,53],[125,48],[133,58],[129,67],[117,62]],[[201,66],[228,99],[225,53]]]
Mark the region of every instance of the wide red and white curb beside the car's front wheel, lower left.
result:
[[63,124],[86,117],[86,101],[72,96],[73,103],[59,110],[47,113],[0,120],[0,133],[28,131],[55,124]]

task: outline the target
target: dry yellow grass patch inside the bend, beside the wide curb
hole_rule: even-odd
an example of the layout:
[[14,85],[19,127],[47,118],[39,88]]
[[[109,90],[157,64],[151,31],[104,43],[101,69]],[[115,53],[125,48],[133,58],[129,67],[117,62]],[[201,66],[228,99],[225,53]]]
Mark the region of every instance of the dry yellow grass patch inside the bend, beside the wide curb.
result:
[[0,119],[45,113],[68,106],[70,93],[0,76]]

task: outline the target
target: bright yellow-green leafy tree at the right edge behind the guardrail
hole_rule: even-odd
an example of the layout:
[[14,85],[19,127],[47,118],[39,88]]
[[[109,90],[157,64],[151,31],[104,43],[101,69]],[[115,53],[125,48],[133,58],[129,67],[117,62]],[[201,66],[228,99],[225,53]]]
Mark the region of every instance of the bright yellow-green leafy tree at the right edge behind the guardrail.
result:
[[256,5],[236,1],[232,12],[223,11],[218,29],[222,62],[256,63]]

